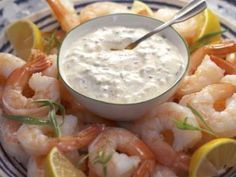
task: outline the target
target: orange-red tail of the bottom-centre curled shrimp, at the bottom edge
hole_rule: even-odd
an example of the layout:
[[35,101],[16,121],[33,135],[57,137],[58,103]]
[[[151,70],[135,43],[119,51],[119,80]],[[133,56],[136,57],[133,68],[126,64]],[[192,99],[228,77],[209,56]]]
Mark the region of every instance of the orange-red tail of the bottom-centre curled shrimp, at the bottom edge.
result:
[[134,172],[133,177],[149,177],[155,168],[154,160],[144,160]]

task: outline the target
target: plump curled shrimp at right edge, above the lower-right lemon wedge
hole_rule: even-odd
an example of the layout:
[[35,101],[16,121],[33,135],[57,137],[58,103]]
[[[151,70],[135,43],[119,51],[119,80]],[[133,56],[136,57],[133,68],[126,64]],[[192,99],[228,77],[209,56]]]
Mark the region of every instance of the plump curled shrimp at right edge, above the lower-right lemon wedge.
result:
[[236,136],[236,87],[228,84],[214,84],[200,92],[184,96],[180,103],[190,104],[201,113],[207,124],[218,136]]

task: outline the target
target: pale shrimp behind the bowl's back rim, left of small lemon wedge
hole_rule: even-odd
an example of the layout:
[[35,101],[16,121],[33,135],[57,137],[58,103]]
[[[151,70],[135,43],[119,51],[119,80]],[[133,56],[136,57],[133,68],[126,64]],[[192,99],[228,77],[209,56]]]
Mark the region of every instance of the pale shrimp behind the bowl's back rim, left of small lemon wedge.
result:
[[84,7],[80,11],[80,22],[84,23],[90,19],[103,15],[127,12],[129,12],[128,8],[122,4],[114,2],[96,2]]

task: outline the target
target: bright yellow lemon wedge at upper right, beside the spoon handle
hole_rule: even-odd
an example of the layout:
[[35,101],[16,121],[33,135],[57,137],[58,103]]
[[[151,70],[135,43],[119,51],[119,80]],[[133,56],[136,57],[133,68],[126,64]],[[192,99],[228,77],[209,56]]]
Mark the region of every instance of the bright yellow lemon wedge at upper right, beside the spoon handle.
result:
[[[204,23],[201,25],[201,31],[198,35],[198,39],[204,36],[205,34],[218,32],[221,30],[219,18],[210,10],[206,9],[204,11],[205,20]],[[220,35],[216,36],[212,41],[220,40]]]

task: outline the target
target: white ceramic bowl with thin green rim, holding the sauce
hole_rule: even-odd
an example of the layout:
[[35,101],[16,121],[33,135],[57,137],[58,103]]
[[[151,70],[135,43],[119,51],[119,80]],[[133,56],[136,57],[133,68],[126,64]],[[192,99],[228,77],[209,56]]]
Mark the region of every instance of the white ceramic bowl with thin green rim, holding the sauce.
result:
[[[58,55],[58,68],[60,76],[71,92],[71,94],[78,100],[79,103],[83,104],[88,110],[108,119],[116,120],[116,121],[128,121],[140,118],[146,112],[150,111],[154,106],[163,103],[168,100],[176,91],[181,79],[183,78],[189,62],[189,54],[187,46],[184,40],[180,37],[180,35],[173,29],[168,28],[162,31],[160,34],[165,36],[169,41],[171,41],[180,51],[180,54],[184,58],[185,68],[181,73],[180,77],[176,80],[173,85],[166,90],[161,95],[153,95],[153,98],[147,101],[131,103],[131,104],[114,104],[104,101],[99,101],[93,98],[90,98],[86,95],[82,95],[79,92],[73,90],[70,85],[65,81],[65,76],[61,71],[61,60],[65,55],[66,50],[70,47],[70,45],[75,41],[87,33],[91,33],[98,28],[104,26],[125,26],[130,28],[145,28],[147,30],[152,30],[153,28],[159,26],[162,22],[139,15],[134,14],[114,14],[99,17],[93,20],[88,21],[80,26],[72,29],[67,36],[65,37],[60,51]],[[155,47],[155,46],[153,46]]]

